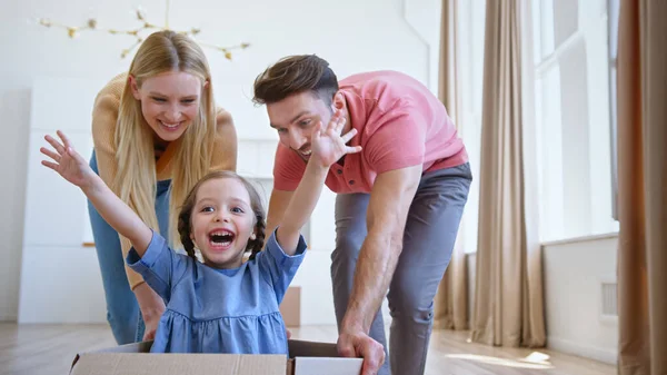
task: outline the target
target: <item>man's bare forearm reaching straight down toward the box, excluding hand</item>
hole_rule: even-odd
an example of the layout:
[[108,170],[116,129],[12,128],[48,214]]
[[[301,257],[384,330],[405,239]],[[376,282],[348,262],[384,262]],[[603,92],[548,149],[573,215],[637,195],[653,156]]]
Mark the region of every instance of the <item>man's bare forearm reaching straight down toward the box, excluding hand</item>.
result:
[[404,229],[421,168],[390,170],[375,180],[367,213],[368,236],[359,250],[341,333],[368,335],[402,250]]

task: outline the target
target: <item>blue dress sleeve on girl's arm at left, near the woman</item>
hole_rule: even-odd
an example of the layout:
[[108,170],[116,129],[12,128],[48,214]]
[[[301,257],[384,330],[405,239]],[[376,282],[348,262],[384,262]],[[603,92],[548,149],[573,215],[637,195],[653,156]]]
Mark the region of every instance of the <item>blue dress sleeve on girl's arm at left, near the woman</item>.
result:
[[128,266],[167,302],[171,298],[171,286],[185,275],[190,260],[172,251],[165,237],[155,231],[143,257],[132,247],[126,258]]

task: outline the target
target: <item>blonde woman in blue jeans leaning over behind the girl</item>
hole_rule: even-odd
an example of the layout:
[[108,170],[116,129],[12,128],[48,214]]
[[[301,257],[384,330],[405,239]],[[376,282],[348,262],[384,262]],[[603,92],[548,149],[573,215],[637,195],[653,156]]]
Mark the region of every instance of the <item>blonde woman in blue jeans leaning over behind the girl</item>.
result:
[[[210,170],[236,170],[236,129],[215,108],[206,56],[169,30],[150,34],[129,72],[98,93],[92,137],[91,168],[177,248],[178,206],[190,188]],[[165,303],[126,267],[130,243],[88,208],[113,336],[119,345],[151,339]]]

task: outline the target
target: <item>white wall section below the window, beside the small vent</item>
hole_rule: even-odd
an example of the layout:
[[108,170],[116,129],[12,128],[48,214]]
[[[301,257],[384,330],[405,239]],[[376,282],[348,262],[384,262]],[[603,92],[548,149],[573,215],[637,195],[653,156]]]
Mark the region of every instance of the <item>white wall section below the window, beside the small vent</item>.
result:
[[616,282],[616,235],[544,247],[547,345],[616,364],[618,320],[601,315],[601,283]]

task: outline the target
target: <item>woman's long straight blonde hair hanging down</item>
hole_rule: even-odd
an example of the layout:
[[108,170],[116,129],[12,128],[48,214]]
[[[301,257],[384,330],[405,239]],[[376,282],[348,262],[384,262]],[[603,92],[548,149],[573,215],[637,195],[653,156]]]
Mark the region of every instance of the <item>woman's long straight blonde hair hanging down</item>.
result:
[[[216,138],[216,109],[208,61],[201,48],[185,34],[158,31],[139,47],[129,75],[137,87],[147,78],[167,71],[183,71],[198,77],[202,85],[199,114],[178,139],[171,160],[171,196],[169,200],[169,239],[180,246],[177,228],[178,207],[197,181],[207,175]],[[116,127],[116,162],[118,174],[113,191],[128,204],[153,230],[159,231],[156,215],[156,159],[153,132],[141,112],[141,102],[135,99],[128,79],[120,98]]]

